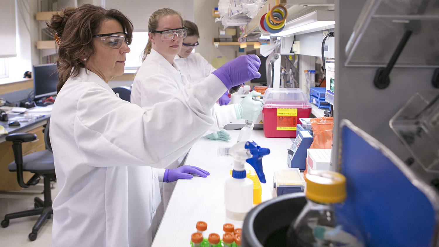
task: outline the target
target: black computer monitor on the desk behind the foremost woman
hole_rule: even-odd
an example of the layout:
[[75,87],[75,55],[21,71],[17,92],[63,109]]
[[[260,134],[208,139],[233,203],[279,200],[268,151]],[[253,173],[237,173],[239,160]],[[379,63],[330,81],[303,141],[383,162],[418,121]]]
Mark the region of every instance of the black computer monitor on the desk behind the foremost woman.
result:
[[32,66],[33,91],[35,98],[43,98],[56,94],[58,69],[55,64]]

